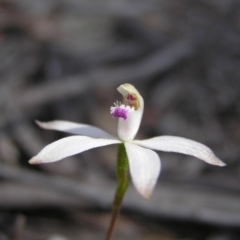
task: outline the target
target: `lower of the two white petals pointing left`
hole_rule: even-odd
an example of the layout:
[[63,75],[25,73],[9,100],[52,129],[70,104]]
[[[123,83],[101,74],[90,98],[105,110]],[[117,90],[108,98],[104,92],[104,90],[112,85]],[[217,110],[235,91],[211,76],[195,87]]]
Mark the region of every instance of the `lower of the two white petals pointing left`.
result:
[[55,162],[88,149],[116,143],[120,143],[120,141],[115,139],[90,138],[85,136],[66,137],[47,145],[35,157],[30,159],[29,163],[38,164]]

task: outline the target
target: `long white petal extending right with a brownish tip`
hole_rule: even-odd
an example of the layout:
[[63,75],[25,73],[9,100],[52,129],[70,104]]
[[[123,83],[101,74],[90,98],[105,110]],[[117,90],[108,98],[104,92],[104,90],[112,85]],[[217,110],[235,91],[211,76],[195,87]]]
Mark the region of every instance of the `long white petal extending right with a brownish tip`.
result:
[[182,137],[160,136],[141,141],[136,140],[133,142],[140,146],[154,150],[191,155],[213,165],[226,165],[224,162],[218,159],[213,151],[207,146]]

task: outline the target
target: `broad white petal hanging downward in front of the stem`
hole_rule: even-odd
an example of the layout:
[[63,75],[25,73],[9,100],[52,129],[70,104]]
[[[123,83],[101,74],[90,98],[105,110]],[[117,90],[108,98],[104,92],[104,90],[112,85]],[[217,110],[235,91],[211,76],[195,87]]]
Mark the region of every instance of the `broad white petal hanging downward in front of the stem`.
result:
[[154,151],[132,143],[125,143],[125,147],[133,184],[143,197],[149,198],[160,173],[160,158]]

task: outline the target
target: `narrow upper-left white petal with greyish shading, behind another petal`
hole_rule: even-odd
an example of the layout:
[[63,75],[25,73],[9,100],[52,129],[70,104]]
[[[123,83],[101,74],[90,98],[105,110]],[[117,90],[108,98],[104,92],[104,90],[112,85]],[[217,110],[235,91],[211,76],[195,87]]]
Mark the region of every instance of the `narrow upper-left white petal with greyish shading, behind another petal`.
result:
[[116,137],[108,134],[102,129],[91,126],[91,125],[87,125],[87,124],[62,121],[62,120],[55,120],[51,122],[36,121],[36,123],[41,128],[48,129],[48,130],[57,130],[57,131],[62,131],[62,132],[67,132],[67,133],[72,133],[77,135],[84,135],[84,136],[94,137],[94,138],[116,139]]

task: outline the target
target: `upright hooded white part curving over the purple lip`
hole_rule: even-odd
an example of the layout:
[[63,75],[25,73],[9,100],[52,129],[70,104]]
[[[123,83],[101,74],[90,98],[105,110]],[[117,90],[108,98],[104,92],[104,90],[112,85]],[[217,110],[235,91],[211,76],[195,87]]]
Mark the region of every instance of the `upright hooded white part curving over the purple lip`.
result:
[[[144,110],[144,101],[137,89],[131,84],[122,84],[117,89],[126,100],[128,94],[134,94],[136,96],[136,102],[134,102],[135,111],[128,114],[126,120],[119,118],[118,120],[118,136],[123,141],[133,140],[138,132],[139,126],[142,121],[142,115]],[[132,107],[132,106],[131,106]]]

